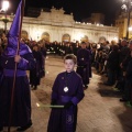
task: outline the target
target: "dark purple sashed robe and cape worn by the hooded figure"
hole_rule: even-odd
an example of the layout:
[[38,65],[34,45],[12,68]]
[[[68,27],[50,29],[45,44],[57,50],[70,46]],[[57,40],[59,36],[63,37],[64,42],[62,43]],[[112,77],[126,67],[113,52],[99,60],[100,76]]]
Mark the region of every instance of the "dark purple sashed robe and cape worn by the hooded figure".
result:
[[[0,127],[9,124],[15,53],[16,48],[8,46],[0,57],[0,67],[3,70],[0,84]],[[21,61],[18,64],[14,86],[11,127],[24,127],[31,120],[31,94],[26,70],[34,68],[35,62],[30,48],[25,44],[20,45],[20,56]]]

